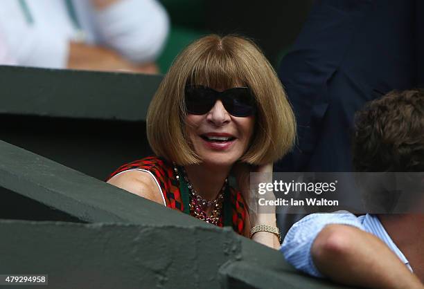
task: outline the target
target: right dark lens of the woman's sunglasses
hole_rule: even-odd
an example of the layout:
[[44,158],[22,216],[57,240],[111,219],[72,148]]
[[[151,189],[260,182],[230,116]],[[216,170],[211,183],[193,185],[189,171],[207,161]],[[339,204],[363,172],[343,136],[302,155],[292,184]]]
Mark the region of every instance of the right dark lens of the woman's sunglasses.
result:
[[247,117],[254,115],[256,106],[254,98],[249,88],[231,88],[226,91],[226,95],[222,97],[225,109],[231,115],[237,117]]

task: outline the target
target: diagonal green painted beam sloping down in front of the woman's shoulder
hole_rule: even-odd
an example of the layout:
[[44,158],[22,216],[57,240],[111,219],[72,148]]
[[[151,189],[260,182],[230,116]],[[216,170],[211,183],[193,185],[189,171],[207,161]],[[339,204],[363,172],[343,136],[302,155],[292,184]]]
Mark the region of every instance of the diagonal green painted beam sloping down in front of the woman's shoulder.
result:
[[0,187],[81,221],[211,226],[7,142],[0,151]]

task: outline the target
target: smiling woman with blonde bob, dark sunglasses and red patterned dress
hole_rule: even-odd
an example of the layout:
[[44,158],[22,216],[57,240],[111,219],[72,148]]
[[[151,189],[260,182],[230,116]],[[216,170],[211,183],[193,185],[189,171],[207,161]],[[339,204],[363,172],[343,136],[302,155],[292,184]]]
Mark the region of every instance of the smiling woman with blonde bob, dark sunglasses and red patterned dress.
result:
[[279,248],[275,215],[248,212],[249,172],[272,172],[296,125],[252,41],[209,35],[184,49],[150,103],[147,133],[155,156],[123,165],[109,183]]

